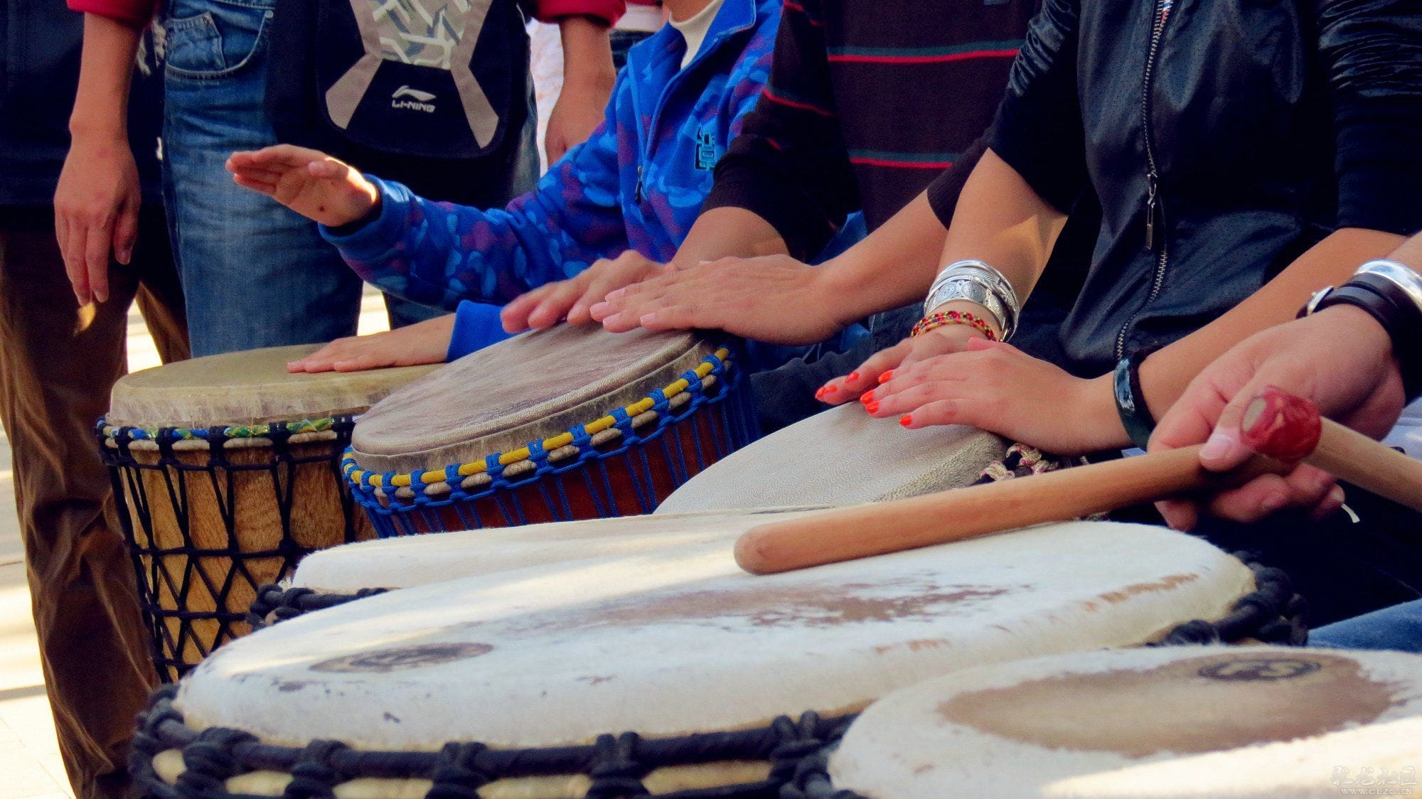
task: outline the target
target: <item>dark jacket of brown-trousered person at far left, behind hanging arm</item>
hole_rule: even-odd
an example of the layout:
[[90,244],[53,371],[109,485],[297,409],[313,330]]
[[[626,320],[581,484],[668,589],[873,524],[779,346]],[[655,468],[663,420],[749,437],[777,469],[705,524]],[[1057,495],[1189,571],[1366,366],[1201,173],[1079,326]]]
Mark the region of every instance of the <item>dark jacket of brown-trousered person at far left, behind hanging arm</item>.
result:
[[[70,149],[84,14],[63,0],[4,0],[0,11],[0,206],[47,206]],[[145,199],[161,198],[158,128],[162,82],[135,75],[129,145]]]

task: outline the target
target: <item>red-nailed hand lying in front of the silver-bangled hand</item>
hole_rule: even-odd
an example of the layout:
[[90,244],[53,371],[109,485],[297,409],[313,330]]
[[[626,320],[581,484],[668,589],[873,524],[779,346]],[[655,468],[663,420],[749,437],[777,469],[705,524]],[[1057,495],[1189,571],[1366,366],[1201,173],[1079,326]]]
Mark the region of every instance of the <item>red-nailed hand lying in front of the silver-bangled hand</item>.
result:
[[975,337],[886,377],[860,401],[909,429],[970,425],[1058,455],[1103,449],[1122,435],[1109,381],[1074,377],[1011,344]]

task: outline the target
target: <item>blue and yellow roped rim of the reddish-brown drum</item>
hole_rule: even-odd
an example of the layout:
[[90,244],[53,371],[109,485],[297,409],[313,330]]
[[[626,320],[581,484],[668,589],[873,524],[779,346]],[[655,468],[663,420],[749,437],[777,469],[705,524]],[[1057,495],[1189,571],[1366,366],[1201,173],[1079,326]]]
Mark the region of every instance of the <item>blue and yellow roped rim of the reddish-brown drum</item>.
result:
[[[704,397],[707,387],[715,385],[720,378],[735,370],[735,360],[731,354],[732,351],[728,344],[720,344],[715,351],[701,358],[700,364],[683,372],[677,377],[677,380],[671,381],[664,388],[644,394],[636,402],[604,411],[599,414],[597,418],[576,425],[572,429],[557,432],[543,439],[530,441],[518,449],[510,449],[508,452],[491,452],[482,458],[447,463],[431,469],[377,472],[371,469],[361,469],[360,463],[356,461],[357,452],[354,446],[347,446],[344,455],[341,456],[341,475],[346,476],[346,481],[354,489],[357,499],[365,499],[368,493],[375,492],[383,492],[390,496],[387,489],[421,489],[417,495],[418,500],[421,495],[428,496],[432,486],[449,486],[452,489],[458,485],[454,478],[458,478],[458,482],[462,483],[469,478],[488,475],[492,469],[502,471],[515,463],[535,461],[540,455],[549,462],[566,461],[580,454],[576,444],[579,441],[590,441],[593,436],[603,434],[604,431],[617,429],[623,425],[641,427],[637,424],[638,418],[643,418],[647,414],[660,414],[660,411],[665,409],[665,407],[675,397]],[[734,385],[735,381],[729,381],[725,391],[729,391]],[[656,419],[660,417],[653,418]],[[390,499],[391,502],[395,500],[394,496],[390,496]],[[363,502],[363,505],[367,503]]]

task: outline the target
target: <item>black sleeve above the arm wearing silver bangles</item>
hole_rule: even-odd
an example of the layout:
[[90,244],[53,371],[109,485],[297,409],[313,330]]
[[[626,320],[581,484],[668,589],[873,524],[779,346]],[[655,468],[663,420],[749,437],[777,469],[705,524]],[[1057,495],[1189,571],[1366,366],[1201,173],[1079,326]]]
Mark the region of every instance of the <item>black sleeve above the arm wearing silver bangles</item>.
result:
[[1086,185],[1086,145],[1076,95],[1078,21],[1078,0],[1042,4],[1012,63],[1007,94],[987,134],[987,146],[1064,213]]

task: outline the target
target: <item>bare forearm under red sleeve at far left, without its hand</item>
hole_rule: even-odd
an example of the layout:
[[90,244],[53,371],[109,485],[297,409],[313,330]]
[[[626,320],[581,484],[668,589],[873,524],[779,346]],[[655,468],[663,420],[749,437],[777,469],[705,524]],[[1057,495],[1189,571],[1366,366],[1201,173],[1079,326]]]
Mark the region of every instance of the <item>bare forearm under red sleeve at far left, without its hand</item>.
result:
[[139,36],[121,21],[84,14],[80,84],[70,114],[75,141],[128,145],[128,88]]

